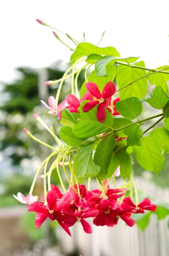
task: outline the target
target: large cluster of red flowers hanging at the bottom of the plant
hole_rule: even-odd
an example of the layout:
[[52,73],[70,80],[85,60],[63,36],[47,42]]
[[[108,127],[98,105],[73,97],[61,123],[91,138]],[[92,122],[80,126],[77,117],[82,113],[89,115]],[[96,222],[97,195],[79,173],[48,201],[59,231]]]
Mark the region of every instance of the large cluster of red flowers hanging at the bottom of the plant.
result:
[[[77,185],[74,185],[77,191]],[[85,185],[79,185],[80,196],[74,189],[62,194],[57,186],[51,185],[51,190],[47,193],[47,204],[34,202],[29,205],[28,211],[36,212],[35,225],[37,228],[50,218],[57,221],[61,227],[71,236],[69,227],[76,222],[80,222],[86,233],[92,233],[90,224],[85,218],[93,217],[96,226],[107,225],[112,227],[121,218],[127,225],[132,227],[135,221],[130,218],[131,213],[144,213],[144,210],[155,211],[156,205],[151,204],[149,198],[145,198],[137,206],[131,198],[124,198],[120,202],[118,198],[126,194],[124,189],[109,189],[101,192],[98,189],[86,191]]]

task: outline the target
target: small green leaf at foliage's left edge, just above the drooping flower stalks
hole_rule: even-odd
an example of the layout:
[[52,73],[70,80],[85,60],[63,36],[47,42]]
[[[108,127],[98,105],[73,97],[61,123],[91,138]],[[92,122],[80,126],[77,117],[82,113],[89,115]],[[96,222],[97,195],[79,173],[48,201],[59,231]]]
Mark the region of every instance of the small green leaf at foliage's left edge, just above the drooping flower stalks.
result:
[[68,145],[79,148],[83,144],[83,140],[77,138],[73,132],[72,127],[70,126],[62,126],[60,128],[60,138]]

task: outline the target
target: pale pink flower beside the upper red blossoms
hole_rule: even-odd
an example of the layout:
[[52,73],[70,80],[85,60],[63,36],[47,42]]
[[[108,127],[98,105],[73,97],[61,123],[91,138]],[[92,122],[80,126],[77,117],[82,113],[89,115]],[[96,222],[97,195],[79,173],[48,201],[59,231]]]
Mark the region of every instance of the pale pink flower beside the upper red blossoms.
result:
[[68,105],[66,100],[63,100],[63,102],[61,102],[60,105],[57,106],[56,100],[53,96],[49,97],[49,106],[43,100],[41,100],[41,102],[46,108],[50,110],[49,113],[53,115],[57,115],[57,111],[62,111],[62,109]]

